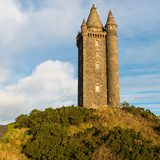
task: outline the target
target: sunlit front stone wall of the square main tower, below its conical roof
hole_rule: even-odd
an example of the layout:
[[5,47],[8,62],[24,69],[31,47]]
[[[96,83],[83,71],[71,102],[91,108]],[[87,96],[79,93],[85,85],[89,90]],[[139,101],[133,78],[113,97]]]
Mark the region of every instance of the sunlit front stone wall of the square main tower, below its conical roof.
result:
[[[107,106],[106,33],[91,32],[84,39],[83,50],[83,106]],[[98,41],[98,45],[96,45]],[[97,55],[99,52],[99,56]],[[99,68],[97,68],[99,65]],[[99,91],[96,91],[99,86]]]

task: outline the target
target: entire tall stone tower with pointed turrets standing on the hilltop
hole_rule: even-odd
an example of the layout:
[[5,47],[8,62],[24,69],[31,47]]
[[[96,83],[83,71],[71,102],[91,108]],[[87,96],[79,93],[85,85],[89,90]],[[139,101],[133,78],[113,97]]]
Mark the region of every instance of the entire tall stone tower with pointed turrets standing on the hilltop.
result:
[[105,28],[93,5],[77,35],[78,106],[120,107],[117,25],[111,10]]

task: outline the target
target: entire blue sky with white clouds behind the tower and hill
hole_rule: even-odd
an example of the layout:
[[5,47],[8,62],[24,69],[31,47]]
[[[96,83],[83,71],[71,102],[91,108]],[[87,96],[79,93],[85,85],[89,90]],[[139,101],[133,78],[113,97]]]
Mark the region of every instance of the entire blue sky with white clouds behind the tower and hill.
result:
[[121,102],[160,115],[159,0],[1,0],[0,124],[77,105],[76,36],[93,3],[118,25]]

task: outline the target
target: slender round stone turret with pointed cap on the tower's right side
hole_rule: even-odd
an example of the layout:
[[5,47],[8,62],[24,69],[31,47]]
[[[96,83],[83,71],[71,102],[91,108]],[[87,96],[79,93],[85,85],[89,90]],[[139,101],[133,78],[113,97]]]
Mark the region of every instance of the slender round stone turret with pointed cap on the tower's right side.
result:
[[107,99],[108,105],[120,106],[119,96],[119,70],[118,70],[118,47],[117,47],[117,25],[111,10],[106,23],[107,32]]

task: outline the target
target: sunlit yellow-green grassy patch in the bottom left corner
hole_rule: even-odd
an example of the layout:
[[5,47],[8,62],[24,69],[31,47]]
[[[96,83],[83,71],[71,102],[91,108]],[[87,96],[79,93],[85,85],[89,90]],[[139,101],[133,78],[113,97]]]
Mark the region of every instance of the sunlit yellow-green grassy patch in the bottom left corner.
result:
[[7,126],[7,132],[0,142],[0,159],[2,160],[27,160],[22,154],[22,146],[31,138],[26,134],[27,129],[15,129],[15,124]]

